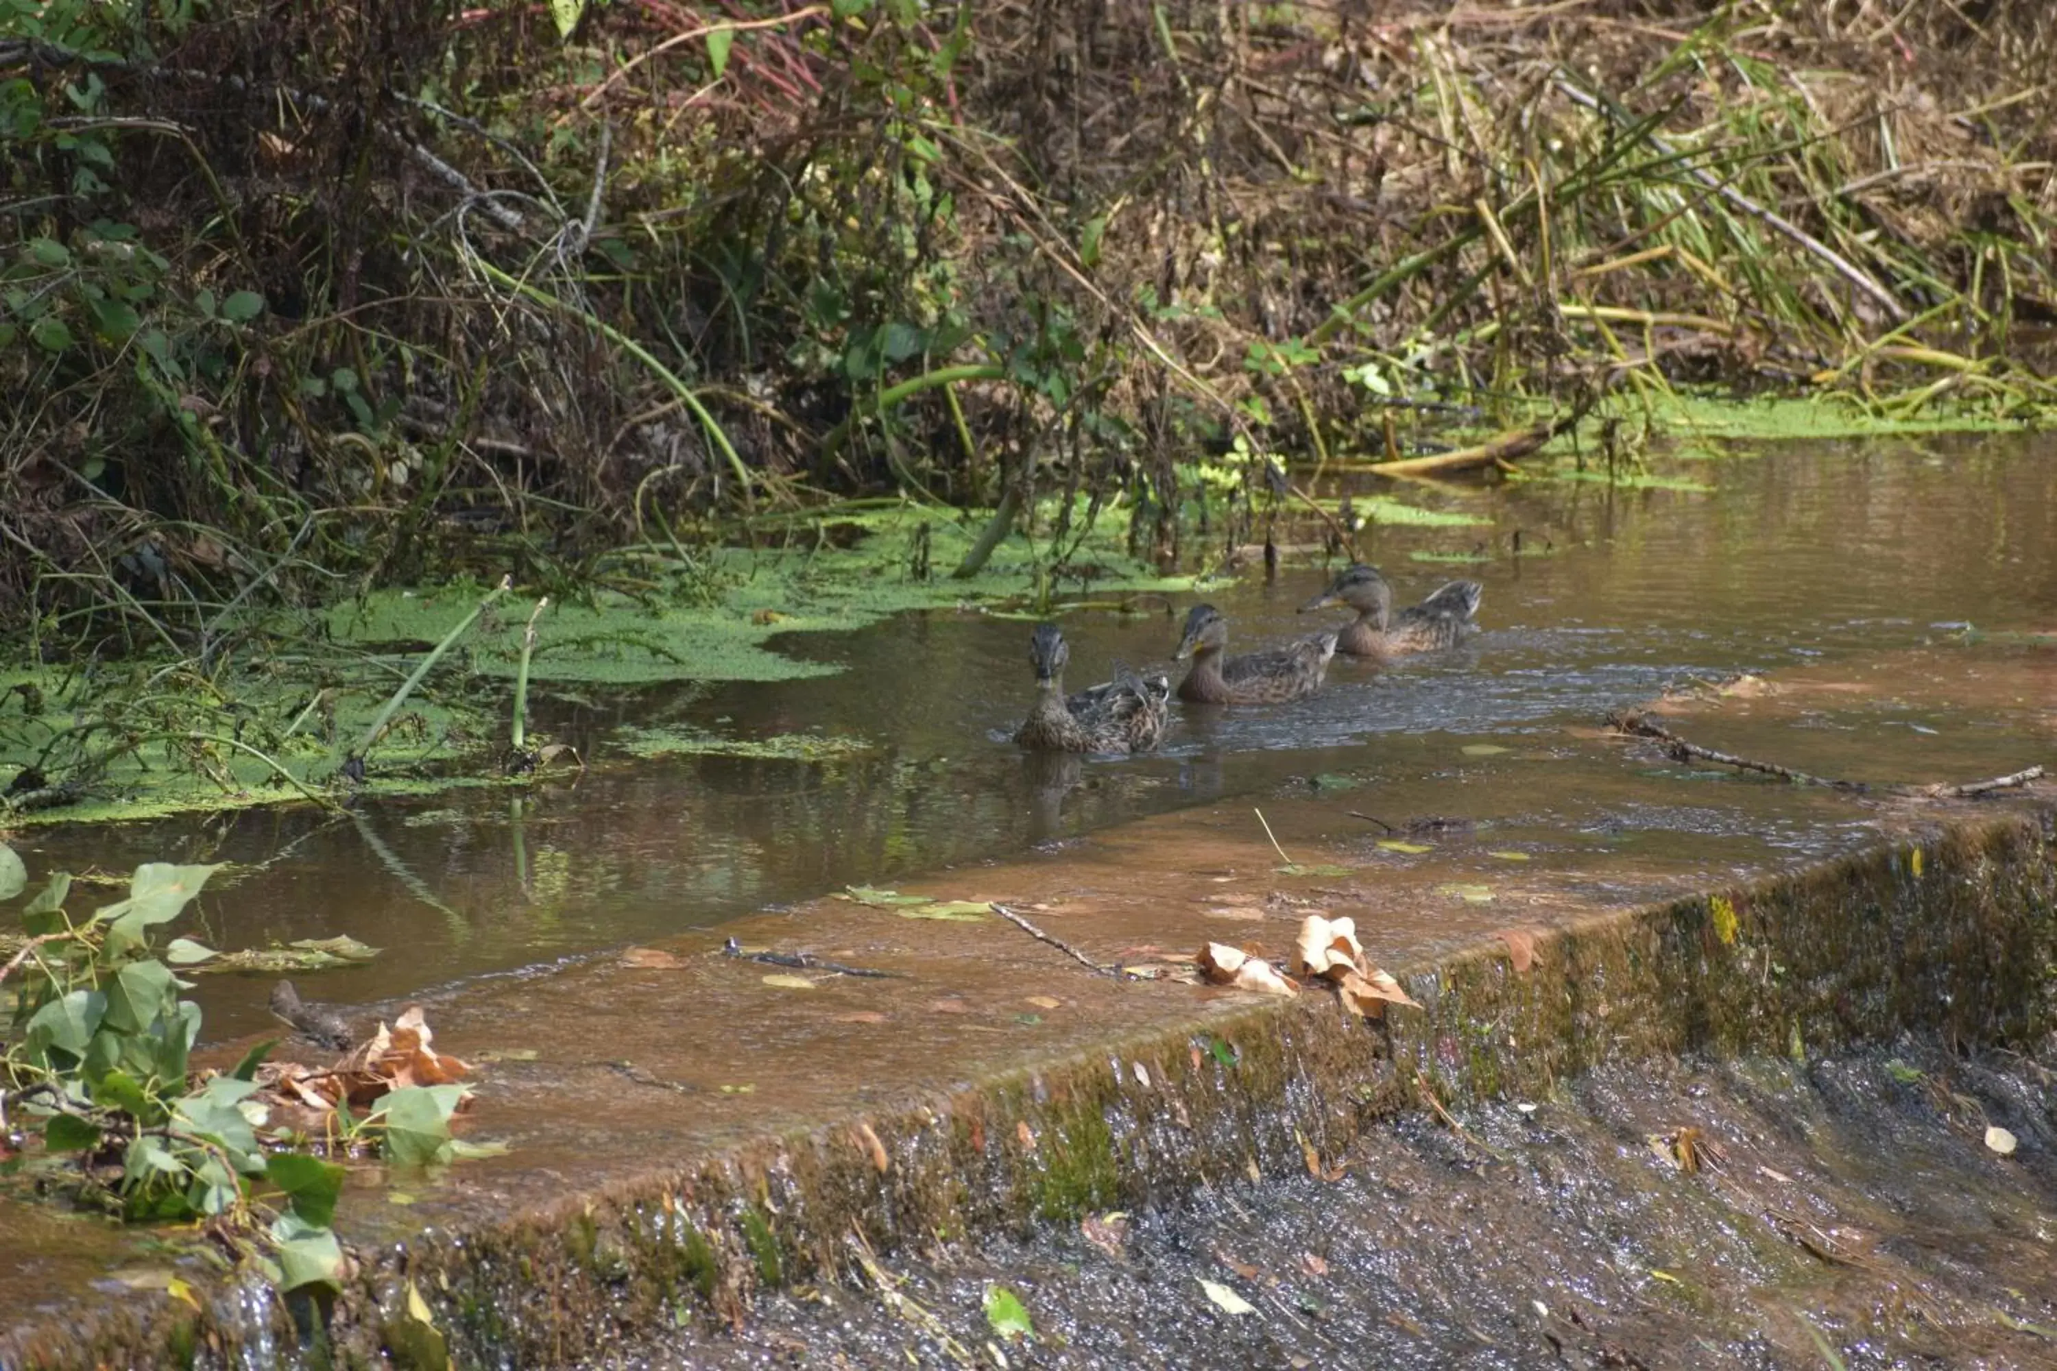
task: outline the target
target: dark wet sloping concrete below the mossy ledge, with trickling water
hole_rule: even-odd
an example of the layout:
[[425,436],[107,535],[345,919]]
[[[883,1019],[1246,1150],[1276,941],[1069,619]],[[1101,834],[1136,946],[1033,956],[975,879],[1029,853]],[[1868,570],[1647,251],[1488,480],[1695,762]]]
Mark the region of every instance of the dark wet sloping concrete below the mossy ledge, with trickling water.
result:
[[1905,1038],[1602,1069],[1135,1215],[850,1246],[741,1334],[687,1320],[580,1365],[2049,1367],[2051,1065]]

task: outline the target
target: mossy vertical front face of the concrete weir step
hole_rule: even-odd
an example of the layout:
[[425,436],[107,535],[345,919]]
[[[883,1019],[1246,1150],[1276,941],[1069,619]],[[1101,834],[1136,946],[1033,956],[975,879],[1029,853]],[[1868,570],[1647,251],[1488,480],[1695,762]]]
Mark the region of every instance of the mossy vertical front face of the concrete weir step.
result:
[[[1532,939],[1532,941],[1530,941]],[[1516,970],[1516,952],[1535,962]],[[564,1365],[679,1320],[747,1318],[862,1250],[1142,1207],[1333,1157],[1436,1091],[1543,1094],[1600,1063],[1827,1052],[1905,1030],[2057,1026],[2057,814],[2010,810],[1691,898],[1512,931],[1401,970],[1419,1009],[1323,993],[1195,1015],[467,1231],[358,1252],[325,1336],[222,1287],[43,1309],[0,1367]],[[348,1225],[346,1225],[348,1227]],[[418,1318],[428,1311],[428,1322]],[[302,1309],[302,1320],[306,1311]]]

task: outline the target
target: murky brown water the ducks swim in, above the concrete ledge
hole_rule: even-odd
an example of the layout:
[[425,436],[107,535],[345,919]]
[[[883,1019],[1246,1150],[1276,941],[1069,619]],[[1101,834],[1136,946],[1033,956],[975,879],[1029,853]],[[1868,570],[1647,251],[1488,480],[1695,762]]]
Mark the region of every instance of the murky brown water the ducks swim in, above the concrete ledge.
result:
[[[841,676],[652,695],[613,715],[743,734],[821,728],[868,740],[862,756],[652,763],[551,779],[520,798],[364,806],[344,820],[276,810],[37,830],[19,847],[33,869],[259,865],[210,888],[202,935],[241,948],[352,933],[385,956],[321,976],[313,993],[358,1003],[708,929],[843,884],[961,882],[952,867],[1037,851],[1061,861],[1068,843],[1123,820],[1232,795],[1306,798],[1323,793],[1316,777],[1349,785],[1335,791],[1329,837],[1376,837],[1347,810],[1388,822],[1463,812],[1493,818],[1493,845],[1535,859],[1619,853],[1629,882],[1639,867],[1827,851],[1849,822],[1835,806],[1796,818],[1783,802],[1755,804],[1746,787],[1720,787],[1707,804],[1676,777],[1639,785],[1633,769],[1586,756],[1576,734],[1666,684],[1806,668],[1814,697],[1761,701],[1757,726],[1730,711],[1705,740],[1740,750],[1755,740],[1790,765],[1892,779],[2047,761],[2057,652],[2018,635],[2057,629],[2053,458],[2047,442],[1952,438],[1668,469],[1709,491],[1430,489],[1423,504],[1491,522],[1384,526],[1374,557],[1403,594],[1454,573],[1485,582],[1485,635],[1382,674],[1339,664],[1323,695],[1290,707],[1187,717],[1160,756],[1129,763],[1016,754],[1004,736],[1026,699],[1026,625],[940,613],[792,641],[845,664]],[[1516,530],[1522,557],[1510,555]],[[1417,559],[1473,549],[1487,559]],[[1224,582],[1207,598],[1251,645],[1316,627],[1292,606],[1323,580],[1323,567],[1300,565],[1275,584]],[[1068,617],[1082,680],[1113,658],[1166,656],[1185,602],[1144,608]],[[1923,691],[1923,664],[1960,680],[1966,660],[1991,662],[2006,699]],[[1868,678],[1851,689],[1845,672]],[[2041,699],[2038,682],[2051,687]],[[607,721],[572,719],[594,738]],[[1711,779],[1699,789],[1716,793]],[[1310,832],[1300,824],[1296,837]],[[1452,933],[1444,923],[1419,931],[1428,941]],[[259,1028],[267,985],[202,978],[210,1038]]]

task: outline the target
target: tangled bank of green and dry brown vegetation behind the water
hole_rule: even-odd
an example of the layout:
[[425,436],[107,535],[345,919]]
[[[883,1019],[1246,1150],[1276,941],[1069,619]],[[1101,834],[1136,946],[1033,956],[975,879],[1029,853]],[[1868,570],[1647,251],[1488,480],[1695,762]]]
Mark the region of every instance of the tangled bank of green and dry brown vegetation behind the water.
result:
[[[395,586],[691,615],[897,512],[895,604],[1047,600],[1310,465],[1615,471],[1695,388],[2047,417],[2053,45],[2024,0],[8,6],[14,793],[498,734],[385,707],[463,613],[352,608]],[[862,613],[802,600],[724,631]],[[714,670],[535,662],[580,652]]]

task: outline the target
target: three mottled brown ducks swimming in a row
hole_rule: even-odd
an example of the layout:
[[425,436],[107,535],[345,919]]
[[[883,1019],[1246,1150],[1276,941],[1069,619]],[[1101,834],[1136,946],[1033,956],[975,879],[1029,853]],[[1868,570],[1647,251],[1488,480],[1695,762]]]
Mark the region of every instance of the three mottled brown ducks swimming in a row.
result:
[[[1319,691],[1337,654],[1388,662],[1450,647],[1475,631],[1481,592],[1479,582],[1450,582],[1419,604],[1393,613],[1393,586],[1376,567],[1356,563],[1300,606],[1302,615],[1347,606],[1358,610],[1356,621],[1286,647],[1234,658],[1228,656],[1228,621],[1212,604],[1195,604],[1172,654],[1175,662],[1193,660],[1179,682],[1179,699],[1193,705],[1284,705]],[[1066,695],[1070,658],[1057,625],[1037,625],[1028,639],[1035,705],[1014,742],[1033,752],[1148,752],[1158,746],[1170,724],[1170,678],[1117,668],[1113,680]]]

